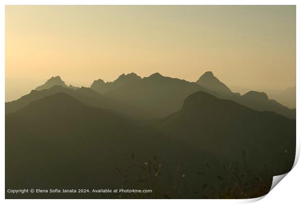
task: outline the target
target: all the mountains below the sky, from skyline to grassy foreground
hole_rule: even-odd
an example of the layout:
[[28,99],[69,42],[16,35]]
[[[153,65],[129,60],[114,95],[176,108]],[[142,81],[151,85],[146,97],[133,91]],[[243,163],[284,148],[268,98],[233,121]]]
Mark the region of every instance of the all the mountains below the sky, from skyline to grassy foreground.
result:
[[[129,73],[90,87],[56,76],[5,102],[6,198],[256,198],[295,152],[296,109],[234,93],[211,71],[196,82]],[[7,191],[25,188],[48,192]]]

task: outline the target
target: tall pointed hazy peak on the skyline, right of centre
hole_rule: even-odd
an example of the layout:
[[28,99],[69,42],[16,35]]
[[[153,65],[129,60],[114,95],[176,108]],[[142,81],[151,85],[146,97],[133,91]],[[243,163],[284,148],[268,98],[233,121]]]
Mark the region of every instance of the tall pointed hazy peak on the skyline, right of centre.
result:
[[[203,75],[201,75],[196,83],[202,87],[217,92],[221,97],[232,97],[234,95],[228,86],[220,82],[217,77],[213,75],[212,71],[206,71]],[[240,94],[236,93],[235,95],[239,96]]]

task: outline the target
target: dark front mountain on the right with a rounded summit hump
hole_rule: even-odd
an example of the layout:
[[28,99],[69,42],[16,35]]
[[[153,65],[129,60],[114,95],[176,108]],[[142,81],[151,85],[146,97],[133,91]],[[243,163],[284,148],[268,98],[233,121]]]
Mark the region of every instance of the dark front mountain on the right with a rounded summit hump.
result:
[[266,165],[274,175],[289,171],[294,163],[295,120],[203,91],[187,97],[183,108],[163,119],[159,127],[181,140],[183,146],[216,153],[217,157],[234,159],[244,150],[250,168]]

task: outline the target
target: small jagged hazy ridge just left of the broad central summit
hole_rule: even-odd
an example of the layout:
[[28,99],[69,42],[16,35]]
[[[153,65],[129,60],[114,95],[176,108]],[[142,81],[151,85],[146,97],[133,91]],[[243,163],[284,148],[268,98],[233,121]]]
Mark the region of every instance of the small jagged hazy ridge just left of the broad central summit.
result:
[[127,83],[140,80],[141,77],[135,73],[130,73],[125,75],[124,73],[121,74],[114,82],[107,82],[105,83],[102,79],[95,80],[92,85],[90,86],[93,90],[99,93],[105,93],[112,89],[120,88],[122,85]]

